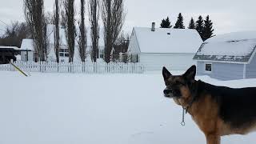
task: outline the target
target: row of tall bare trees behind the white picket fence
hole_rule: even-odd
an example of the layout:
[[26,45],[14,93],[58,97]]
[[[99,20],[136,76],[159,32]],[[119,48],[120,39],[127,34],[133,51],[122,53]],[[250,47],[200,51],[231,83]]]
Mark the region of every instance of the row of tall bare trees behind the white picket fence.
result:
[[[122,33],[126,11],[123,0],[79,0],[79,16],[76,17],[74,0],[54,0],[54,14],[46,14],[44,0],[23,0],[26,23],[30,29],[30,38],[34,39],[34,48],[40,61],[46,61],[49,49],[47,23],[54,24],[54,52],[59,62],[60,34],[59,26],[65,27],[66,42],[69,51],[69,62],[74,61],[75,42],[82,62],[86,60],[86,11],[89,15],[92,59],[97,61],[99,19],[102,19],[105,54],[104,60],[110,62],[111,52]],[[86,6],[87,5],[87,6]],[[77,18],[77,19],[76,19]],[[78,26],[78,31],[76,29]]]

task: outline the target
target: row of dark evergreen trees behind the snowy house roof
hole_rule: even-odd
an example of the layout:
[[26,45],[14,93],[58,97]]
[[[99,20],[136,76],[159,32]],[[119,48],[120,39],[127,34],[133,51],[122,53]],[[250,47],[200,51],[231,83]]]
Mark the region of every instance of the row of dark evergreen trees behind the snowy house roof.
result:
[[[161,28],[172,28],[173,26],[171,25],[170,18],[167,17],[167,18],[162,19],[160,27]],[[185,29],[182,13],[178,14],[177,22],[175,22],[175,25],[173,28],[174,29]],[[210,20],[209,15],[207,15],[205,19],[203,19],[202,16],[200,15],[196,22],[194,22],[194,18],[191,18],[189,26],[187,28],[197,30],[198,34],[200,34],[203,41],[206,41],[206,39],[214,36],[213,22]]]

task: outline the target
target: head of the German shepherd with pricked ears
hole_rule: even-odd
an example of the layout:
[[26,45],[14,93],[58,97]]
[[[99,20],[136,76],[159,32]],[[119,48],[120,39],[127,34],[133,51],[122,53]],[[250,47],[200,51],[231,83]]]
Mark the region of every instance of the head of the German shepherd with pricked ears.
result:
[[191,66],[182,75],[172,75],[166,67],[163,67],[162,76],[166,83],[166,89],[163,90],[164,96],[166,98],[189,98],[191,96],[190,86],[194,82],[195,74],[196,66]]

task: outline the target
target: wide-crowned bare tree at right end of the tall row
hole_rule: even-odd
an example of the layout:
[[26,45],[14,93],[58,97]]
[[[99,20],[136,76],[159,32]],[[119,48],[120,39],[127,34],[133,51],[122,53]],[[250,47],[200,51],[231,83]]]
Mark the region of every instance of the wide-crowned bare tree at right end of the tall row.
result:
[[110,62],[110,54],[118,35],[122,31],[126,13],[123,0],[102,0],[102,21],[104,25],[105,61]]

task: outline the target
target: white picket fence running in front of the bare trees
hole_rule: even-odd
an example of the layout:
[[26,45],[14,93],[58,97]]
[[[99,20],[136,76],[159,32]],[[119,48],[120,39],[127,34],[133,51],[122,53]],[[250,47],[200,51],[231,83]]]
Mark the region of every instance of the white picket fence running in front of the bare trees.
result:
[[[46,73],[85,73],[85,74],[142,74],[144,71],[140,63],[123,62],[14,62],[21,70],[26,72]],[[0,70],[14,70],[10,64],[0,65]]]

